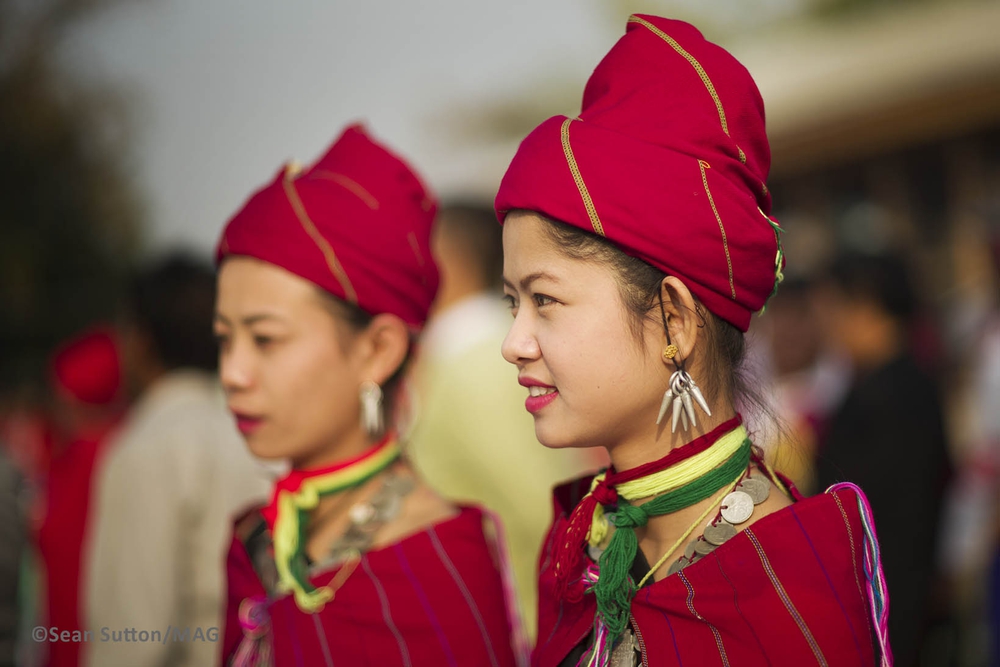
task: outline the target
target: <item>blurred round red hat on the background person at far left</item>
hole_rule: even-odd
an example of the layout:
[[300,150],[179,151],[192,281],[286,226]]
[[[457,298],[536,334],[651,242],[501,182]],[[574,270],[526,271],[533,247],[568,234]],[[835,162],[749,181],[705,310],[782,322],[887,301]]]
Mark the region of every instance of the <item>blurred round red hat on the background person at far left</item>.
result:
[[85,331],[53,354],[51,372],[56,391],[91,405],[108,405],[122,386],[118,342],[111,330]]

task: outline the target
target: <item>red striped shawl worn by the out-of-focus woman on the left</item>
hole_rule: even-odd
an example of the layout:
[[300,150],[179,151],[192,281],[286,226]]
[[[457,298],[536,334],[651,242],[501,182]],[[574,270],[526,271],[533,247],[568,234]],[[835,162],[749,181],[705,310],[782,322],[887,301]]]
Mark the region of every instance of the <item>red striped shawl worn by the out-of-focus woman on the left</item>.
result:
[[[300,611],[291,595],[267,603],[275,667],[516,664],[497,545],[485,521],[481,510],[463,507],[454,519],[368,551],[316,614]],[[243,639],[239,606],[265,589],[239,539],[227,569],[228,665]],[[313,584],[329,583],[338,570],[315,575]]]

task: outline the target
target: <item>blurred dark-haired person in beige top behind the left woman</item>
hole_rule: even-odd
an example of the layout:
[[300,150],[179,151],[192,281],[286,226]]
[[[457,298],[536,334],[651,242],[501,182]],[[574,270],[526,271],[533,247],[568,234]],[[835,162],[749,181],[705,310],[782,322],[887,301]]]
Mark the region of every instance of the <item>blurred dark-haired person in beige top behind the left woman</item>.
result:
[[[221,626],[232,518],[264,497],[269,475],[240,441],[213,375],[214,297],[214,272],[183,255],[132,284],[120,335],[135,402],[96,480],[92,629]],[[84,653],[93,667],[202,667],[216,663],[218,643],[93,641]]]

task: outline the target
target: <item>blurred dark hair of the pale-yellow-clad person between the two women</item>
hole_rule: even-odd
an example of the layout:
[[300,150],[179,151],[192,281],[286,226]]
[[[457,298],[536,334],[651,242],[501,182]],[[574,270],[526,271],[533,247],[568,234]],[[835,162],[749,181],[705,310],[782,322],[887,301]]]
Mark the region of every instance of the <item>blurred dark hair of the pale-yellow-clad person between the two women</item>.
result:
[[503,228],[491,206],[456,203],[438,213],[438,233],[454,241],[479,269],[481,284],[499,289],[503,273]]

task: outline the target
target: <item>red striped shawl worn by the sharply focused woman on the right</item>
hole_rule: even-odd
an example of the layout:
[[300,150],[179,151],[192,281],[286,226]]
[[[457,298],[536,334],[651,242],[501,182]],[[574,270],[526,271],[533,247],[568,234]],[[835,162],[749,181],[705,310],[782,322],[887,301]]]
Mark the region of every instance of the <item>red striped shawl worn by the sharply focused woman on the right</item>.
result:
[[[540,562],[532,655],[538,667],[559,665],[594,625],[593,595],[577,603],[556,599],[551,564],[553,539],[589,487],[584,479],[556,489],[556,520]],[[857,497],[847,490],[800,500],[757,521],[639,590],[631,622],[643,665],[877,665],[863,539]]]

